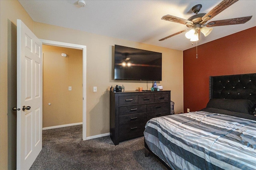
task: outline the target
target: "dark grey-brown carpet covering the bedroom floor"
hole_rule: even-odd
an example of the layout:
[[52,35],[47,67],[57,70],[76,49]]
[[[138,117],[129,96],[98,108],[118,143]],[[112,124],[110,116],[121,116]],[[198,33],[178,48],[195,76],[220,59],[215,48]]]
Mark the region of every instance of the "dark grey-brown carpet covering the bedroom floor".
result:
[[114,146],[109,136],[82,141],[82,125],[44,130],[42,151],[30,170],[166,170],[144,137]]

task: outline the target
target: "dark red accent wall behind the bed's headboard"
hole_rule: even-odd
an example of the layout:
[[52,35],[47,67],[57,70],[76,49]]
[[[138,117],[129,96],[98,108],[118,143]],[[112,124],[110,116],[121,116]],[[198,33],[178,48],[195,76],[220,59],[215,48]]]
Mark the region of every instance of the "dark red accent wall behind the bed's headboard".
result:
[[256,73],[256,27],[183,51],[183,72],[184,112],[206,107],[209,76]]

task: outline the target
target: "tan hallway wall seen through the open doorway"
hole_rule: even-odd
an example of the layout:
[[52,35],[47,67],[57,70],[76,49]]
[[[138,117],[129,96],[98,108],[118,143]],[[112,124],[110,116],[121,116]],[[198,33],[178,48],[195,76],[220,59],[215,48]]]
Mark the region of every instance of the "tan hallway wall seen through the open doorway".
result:
[[82,50],[43,45],[42,51],[43,127],[82,122]]

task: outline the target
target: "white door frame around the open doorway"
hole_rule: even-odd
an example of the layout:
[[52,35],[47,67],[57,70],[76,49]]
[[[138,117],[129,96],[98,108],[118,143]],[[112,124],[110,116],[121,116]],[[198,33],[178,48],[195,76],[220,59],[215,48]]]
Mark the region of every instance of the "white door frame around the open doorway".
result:
[[[71,43],[63,43],[59,41],[50,41],[46,39],[40,39],[43,45],[53,45],[58,47],[66,47],[71,49],[80,49],[82,50],[83,55],[83,127],[82,127],[82,139],[86,140],[86,46],[71,44]],[[44,111],[43,111],[44,112]]]

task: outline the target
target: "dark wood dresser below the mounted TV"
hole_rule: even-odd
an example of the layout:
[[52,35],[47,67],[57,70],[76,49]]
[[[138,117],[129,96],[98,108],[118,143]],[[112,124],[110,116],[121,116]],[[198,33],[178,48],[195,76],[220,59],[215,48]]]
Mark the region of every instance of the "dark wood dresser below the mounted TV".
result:
[[110,92],[110,138],[119,141],[143,135],[146,122],[170,115],[171,92]]

